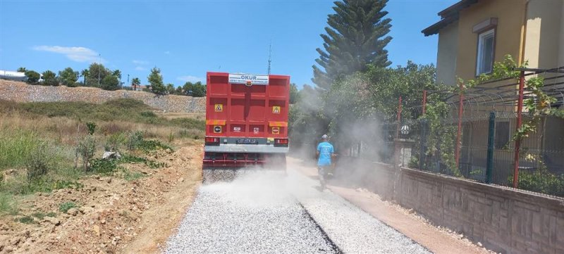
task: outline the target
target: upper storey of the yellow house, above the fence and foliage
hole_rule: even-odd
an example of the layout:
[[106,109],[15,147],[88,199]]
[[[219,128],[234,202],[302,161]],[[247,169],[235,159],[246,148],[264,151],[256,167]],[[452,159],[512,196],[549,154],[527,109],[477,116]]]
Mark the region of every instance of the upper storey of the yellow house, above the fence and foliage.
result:
[[529,68],[564,65],[564,0],[462,0],[439,16],[422,31],[439,34],[437,82],[488,73],[506,54]]

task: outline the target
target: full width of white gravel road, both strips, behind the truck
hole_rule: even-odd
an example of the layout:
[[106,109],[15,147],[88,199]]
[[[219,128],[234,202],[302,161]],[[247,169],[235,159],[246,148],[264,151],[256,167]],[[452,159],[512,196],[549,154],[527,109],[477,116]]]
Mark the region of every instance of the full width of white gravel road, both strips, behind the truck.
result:
[[288,170],[200,187],[165,253],[430,253]]

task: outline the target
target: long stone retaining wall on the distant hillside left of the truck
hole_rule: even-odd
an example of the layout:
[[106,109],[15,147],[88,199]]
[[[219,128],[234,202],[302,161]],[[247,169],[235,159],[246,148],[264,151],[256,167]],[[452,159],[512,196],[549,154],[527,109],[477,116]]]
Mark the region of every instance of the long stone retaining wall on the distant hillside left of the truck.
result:
[[106,91],[93,87],[44,87],[23,82],[0,80],[0,100],[17,102],[84,101],[103,103],[112,99],[131,98],[167,112],[205,113],[206,98],[191,96],[155,96],[145,91]]

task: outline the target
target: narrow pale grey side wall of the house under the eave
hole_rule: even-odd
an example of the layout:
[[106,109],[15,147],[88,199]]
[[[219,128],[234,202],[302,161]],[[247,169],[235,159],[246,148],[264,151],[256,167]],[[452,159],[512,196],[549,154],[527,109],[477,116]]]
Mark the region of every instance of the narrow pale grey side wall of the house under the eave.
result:
[[458,22],[439,32],[439,49],[436,56],[437,84],[456,84],[456,56],[458,52]]

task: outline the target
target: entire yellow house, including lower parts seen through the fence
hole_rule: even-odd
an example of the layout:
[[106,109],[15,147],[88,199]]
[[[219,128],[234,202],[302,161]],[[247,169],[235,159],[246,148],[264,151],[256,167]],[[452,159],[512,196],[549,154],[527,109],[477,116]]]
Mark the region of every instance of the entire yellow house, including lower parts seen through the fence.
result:
[[[439,35],[438,83],[456,85],[457,77],[471,80],[482,73],[489,73],[493,63],[502,61],[507,54],[519,64],[528,61],[528,68],[564,67],[564,0],[461,0],[438,14],[441,19],[422,30],[425,36]],[[551,82],[564,84],[564,78]],[[564,91],[564,86],[560,87]],[[556,106],[561,108],[564,94],[553,95],[558,97],[560,104]],[[495,95],[484,91],[483,96]],[[476,104],[479,103],[477,100]],[[494,167],[510,169],[513,151],[504,147],[508,143],[509,147],[513,147],[510,137],[516,129],[516,121],[511,113],[515,107],[501,108],[510,116],[496,119]],[[465,117],[470,110],[484,111],[482,113],[486,115],[495,108],[469,107],[465,109]],[[479,171],[486,166],[487,134],[487,118],[465,122],[459,164],[462,170]],[[550,170],[564,172],[564,120],[544,119],[539,132],[529,136],[522,146],[529,153],[541,155]],[[525,161],[520,165],[524,169],[538,167],[538,164]],[[503,182],[509,174],[510,170],[505,170],[497,178]]]

